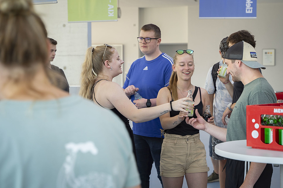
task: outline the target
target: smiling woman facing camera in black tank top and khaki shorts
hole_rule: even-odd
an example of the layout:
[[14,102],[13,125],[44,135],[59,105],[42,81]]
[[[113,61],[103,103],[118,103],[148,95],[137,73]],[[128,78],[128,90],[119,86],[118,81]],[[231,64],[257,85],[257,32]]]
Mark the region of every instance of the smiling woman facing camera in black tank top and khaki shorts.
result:
[[[204,113],[206,105],[209,105],[209,95],[205,89],[191,83],[195,68],[193,51],[188,49],[176,52],[169,86],[159,90],[157,105],[186,97],[188,91],[192,90],[194,107],[188,106],[188,109],[198,109],[199,113]],[[196,118],[195,113],[193,117]],[[164,187],[182,187],[184,175],[188,187],[207,187],[209,168],[206,152],[199,139],[199,130],[187,124],[191,117],[182,111],[171,111],[159,118],[165,129],[160,158],[160,175]],[[213,119],[209,121],[213,123]]]

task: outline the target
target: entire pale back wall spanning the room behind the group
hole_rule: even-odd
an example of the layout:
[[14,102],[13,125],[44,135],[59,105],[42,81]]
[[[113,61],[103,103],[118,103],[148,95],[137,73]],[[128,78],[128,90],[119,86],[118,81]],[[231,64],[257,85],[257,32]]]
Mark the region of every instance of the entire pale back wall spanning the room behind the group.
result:
[[[189,3],[188,3],[189,4]],[[187,5],[188,5],[187,4]],[[87,48],[87,23],[67,22],[67,0],[57,4],[36,5],[46,23],[49,37],[58,41],[53,63],[64,69],[70,85],[79,84],[80,66]],[[121,6],[122,16],[117,22],[91,23],[92,44],[123,44],[124,72],[139,58],[136,37],[142,25],[157,24],[163,44],[187,43],[194,50],[196,69],[193,84],[204,87],[207,71],[220,60],[218,53],[222,38],[238,30],[252,32],[257,41],[258,61],[262,63],[262,49],[275,49],[275,66],[267,66],[263,75],[274,90],[283,90],[283,2],[258,3],[257,19],[199,19],[199,5],[138,8]],[[176,49],[172,49],[174,52]]]

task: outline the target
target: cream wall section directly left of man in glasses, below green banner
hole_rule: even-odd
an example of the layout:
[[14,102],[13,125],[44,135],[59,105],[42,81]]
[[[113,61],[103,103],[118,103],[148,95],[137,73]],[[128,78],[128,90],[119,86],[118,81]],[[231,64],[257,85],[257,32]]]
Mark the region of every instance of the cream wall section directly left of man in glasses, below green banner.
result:
[[139,57],[139,45],[136,39],[140,30],[138,10],[136,7],[125,7],[122,8],[122,16],[118,21],[91,23],[92,44],[123,44],[125,74],[132,62]]

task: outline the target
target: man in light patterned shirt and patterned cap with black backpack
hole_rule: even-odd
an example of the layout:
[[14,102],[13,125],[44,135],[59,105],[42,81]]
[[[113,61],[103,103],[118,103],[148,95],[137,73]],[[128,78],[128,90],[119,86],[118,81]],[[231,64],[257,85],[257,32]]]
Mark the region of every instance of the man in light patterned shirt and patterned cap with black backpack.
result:
[[[211,115],[214,116],[214,124],[217,127],[227,128],[227,125],[222,123],[222,114],[225,111],[227,105],[232,102],[232,97],[229,95],[228,90],[225,87],[225,84],[232,81],[232,77],[227,74],[228,81],[222,83],[217,77],[217,70],[223,64],[225,64],[224,54],[228,50],[227,38],[225,37],[221,40],[219,45],[219,54],[221,56],[221,61],[214,64],[210,67],[207,78],[205,81],[205,90],[207,90],[210,98],[210,112]],[[214,97],[215,95],[215,97]],[[227,122],[229,119],[226,119]],[[214,171],[213,173],[207,178],[207,183],[217,182],[219,181],[220,188],[225,187],[225,170],[223,170],[226,158],[217,155],[214,152],[214,147],[218,144],[222,143],[219,139],[210,135],[209,137],[209,156],[211,157],[211,161],[213,164]]]

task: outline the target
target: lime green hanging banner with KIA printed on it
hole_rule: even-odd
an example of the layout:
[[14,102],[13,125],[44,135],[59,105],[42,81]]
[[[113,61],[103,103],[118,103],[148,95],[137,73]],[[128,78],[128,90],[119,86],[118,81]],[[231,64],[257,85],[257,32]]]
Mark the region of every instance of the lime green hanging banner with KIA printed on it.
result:
[[68,0],[68,22],[117,21],[117,0]]

